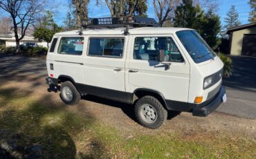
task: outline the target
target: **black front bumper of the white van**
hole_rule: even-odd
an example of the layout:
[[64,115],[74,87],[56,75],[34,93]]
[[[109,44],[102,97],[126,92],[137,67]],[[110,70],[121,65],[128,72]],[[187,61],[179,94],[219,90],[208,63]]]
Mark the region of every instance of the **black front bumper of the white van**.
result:
[[192,114],[194,116],[201,116],[205,117],[212,113],[212,111],[215,111],[219,105],[223,102],[222,97],[226,94],[226,88],[221,86],[219,92],[212,97],[211,100],[208,100],[206,102],[203,102],[201,104],[196,104],[196,106],[193,106]]

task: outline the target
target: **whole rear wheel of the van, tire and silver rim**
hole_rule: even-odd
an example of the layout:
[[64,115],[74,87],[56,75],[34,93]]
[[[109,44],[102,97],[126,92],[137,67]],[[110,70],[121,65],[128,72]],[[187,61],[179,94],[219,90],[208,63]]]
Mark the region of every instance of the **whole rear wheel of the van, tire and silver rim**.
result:
[[74,105],[81,100],[81,95],[70,81],[63,82],[60,88],[60,97],[65,104]]

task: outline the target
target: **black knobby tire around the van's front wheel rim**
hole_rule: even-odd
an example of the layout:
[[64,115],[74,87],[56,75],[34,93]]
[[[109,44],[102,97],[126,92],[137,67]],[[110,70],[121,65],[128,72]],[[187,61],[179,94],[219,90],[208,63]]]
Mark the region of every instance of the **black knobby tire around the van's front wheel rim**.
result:
[[[141,112],[143,109],[143,106],[149,105],[154,108],[156,111],[156,119],[153,122],[147,122],[145,120],[145,117],[143,116],[143,113]],[[145,96],[140,98],[135,105],[135,115],[138,120],[138,122],[143,125],[144,127],[147,127],[149,129],[157,129],[158,127],[161,127],[161,125],[167,120],[167,111],[159,102],[156,97],[152,96]]]

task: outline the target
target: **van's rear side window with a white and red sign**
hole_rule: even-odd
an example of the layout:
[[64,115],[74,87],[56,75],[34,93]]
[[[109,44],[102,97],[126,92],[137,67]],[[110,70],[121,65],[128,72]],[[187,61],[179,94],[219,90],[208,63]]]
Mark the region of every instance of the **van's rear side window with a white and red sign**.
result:
[[59,54],[82,55],[84,37],[62,37],[58,49]]

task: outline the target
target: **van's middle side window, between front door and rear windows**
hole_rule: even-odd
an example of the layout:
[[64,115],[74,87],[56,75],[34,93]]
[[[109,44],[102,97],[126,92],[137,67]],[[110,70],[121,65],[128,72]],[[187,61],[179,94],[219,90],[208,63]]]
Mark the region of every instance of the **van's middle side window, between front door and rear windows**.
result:
[[88,55],[122,57],[124,42],[122,38],[90,38]]

